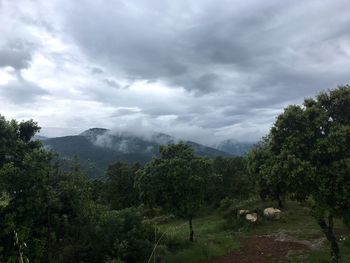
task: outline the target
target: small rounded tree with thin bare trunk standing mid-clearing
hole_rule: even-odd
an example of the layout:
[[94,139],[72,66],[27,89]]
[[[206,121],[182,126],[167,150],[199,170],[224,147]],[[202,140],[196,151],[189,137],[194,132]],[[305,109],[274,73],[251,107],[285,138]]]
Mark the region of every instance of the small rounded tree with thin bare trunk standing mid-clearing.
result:
[[195,156],[191,146],[185,143],[160,146],[159,151],[160,157],[152,159],[137,173],[141,200],[186,218],[189,240],[193,241],[192,219],[203,203],[211,163]]

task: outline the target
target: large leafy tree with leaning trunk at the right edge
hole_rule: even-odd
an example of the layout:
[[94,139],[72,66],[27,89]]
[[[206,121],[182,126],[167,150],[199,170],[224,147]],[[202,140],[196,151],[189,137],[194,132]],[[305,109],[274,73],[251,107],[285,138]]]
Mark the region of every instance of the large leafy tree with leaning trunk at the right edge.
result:
[[313,201],[313,216],[331,245],[331,262],[339,261],[333,220],[350,219],[350,86],[322,92],[291,105],[279,115],[262,148],[253,156],[270,180],[284,181],[281,190],[293,198]]

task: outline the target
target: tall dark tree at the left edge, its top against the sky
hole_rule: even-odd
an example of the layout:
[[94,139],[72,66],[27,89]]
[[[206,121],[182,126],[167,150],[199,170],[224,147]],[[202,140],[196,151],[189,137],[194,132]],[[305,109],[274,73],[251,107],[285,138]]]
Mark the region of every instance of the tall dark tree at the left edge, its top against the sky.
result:
[[17,123],[0,116],[0,192],[8,197],[0,210],[1,261],[18,257],[16,240],[28,244],[24,254],[34,261],[45,254],[47,230],[37,226],[46,218],[51,155],[31,140],[39,130],[32,120]]

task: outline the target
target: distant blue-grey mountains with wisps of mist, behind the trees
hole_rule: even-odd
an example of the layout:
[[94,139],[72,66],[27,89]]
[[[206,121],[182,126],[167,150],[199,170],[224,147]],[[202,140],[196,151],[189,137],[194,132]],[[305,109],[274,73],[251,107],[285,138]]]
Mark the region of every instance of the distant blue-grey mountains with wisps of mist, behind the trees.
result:
[[[111,132],[107,129],[92,128],[79,135],[46,138],[42,140],[45,148],[58,152],[60,158],[72,160],[75,156],[90,170],[93,177],[101,177],[107,166],[115,161],[146,163],[157,156],[159,145],[176,142],[175,138],[154,133],[150,136],[136,136],[128,132]],[[231,154],[187,141],[201,156],[231,156]]]

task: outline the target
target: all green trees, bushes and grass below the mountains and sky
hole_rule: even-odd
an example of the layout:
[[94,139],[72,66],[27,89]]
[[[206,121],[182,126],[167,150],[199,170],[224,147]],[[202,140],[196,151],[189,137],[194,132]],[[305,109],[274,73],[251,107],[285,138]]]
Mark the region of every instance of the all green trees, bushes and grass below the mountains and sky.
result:
[[[0,261],[203,262],[283,236],[308,249],[277,262],[348,262],[349,112],[339,87],[287,107],[247,157],[171,144],[144,166],[111,163],[104,180],[33,140],[34,121],[0,116]],[[267,219],[275,203],[282,218]]]

